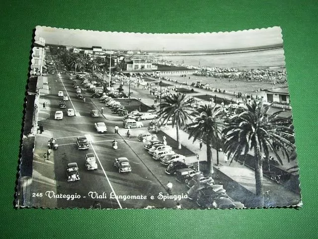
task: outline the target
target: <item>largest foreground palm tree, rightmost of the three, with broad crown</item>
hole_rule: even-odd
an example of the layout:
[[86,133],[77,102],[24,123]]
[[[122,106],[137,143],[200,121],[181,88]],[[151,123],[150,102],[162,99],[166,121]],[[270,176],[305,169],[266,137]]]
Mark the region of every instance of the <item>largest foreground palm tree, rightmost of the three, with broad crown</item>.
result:
[[283,164],[277,153],[280,150],[289,161],[290,152],[295,149],[294,130],[291,118],[278,118],[282,111],[270,116],[270,106],[263,106],[261,101],[255,100],[246,104],[246,107],[226,124],[222,132],[224,151],[232,155],[231,163],[238,160],[241,154],[245,159],[249,151],[254,153],[256,196],[263,205],[263,160],[268,160],[269,153],[274,152],[278,161]]

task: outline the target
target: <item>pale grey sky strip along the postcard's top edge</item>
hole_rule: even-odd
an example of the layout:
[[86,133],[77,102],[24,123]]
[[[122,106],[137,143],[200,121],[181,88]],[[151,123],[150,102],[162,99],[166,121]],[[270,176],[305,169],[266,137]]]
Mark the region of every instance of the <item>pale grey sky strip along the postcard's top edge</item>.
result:
[[282,44],[278,26],[212,33],[128,33],[37,26],[35,41],[73,47],[101,46],[107,50],[203,51]]

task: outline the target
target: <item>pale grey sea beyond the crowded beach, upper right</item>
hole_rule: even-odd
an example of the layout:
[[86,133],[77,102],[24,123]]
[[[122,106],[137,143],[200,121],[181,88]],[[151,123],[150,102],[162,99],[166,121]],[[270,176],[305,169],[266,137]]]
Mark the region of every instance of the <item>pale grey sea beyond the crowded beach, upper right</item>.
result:
[[163,55],[162,60],[198,67],[237,69],[284,68],[284,49],[259,49],[239,53],[223,52],[206,55]]

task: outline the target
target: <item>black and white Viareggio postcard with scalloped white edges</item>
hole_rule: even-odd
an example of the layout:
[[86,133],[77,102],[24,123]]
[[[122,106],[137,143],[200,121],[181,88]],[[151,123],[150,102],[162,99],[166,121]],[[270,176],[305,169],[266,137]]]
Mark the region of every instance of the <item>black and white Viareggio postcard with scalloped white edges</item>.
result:
[[279,26],[36,26],[30,59],[15,207],[302,206]]

